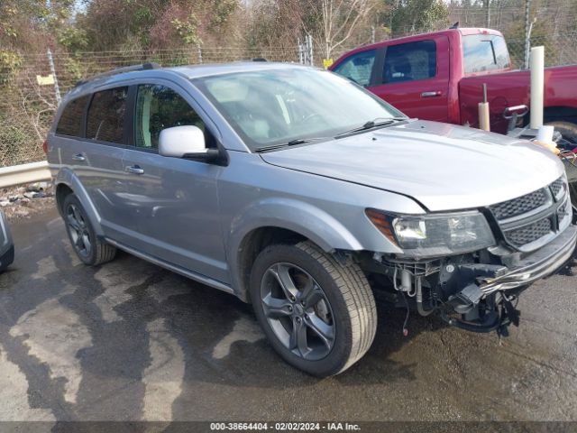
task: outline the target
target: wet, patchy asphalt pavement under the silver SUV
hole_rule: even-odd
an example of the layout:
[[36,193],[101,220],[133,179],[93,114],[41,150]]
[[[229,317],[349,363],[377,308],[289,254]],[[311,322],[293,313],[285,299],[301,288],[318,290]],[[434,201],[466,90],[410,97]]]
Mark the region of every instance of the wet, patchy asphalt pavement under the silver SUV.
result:
[[[12,224],[0,275],[0,420],[574,420],[577,277],[521,297],[511,336],[379,308],[367,355],[318,380],[252,309],[129,254],[78,262],[54,209]],[[573,264],[574,271],[577,266]]]

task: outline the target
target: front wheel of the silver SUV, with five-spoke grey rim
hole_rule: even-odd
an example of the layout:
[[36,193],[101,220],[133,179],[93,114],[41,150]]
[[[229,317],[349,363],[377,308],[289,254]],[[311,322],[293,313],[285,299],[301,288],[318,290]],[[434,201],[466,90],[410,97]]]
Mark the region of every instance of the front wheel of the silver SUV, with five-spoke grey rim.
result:
[[266,247],[252,266],[251,299],[273,348],[316,376],[349,368],[375,336],[375,301],[362,270],[310,242]]

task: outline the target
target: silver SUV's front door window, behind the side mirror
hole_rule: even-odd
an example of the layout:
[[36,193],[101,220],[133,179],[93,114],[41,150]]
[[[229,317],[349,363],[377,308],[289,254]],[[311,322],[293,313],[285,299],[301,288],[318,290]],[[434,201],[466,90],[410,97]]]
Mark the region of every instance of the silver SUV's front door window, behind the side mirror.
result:
[[188,102],[165,86],[139,86],[135,116],[134,138],[138,147],[158,149],[160,131],[172,126],[190,124],[205,131],[204,122]]

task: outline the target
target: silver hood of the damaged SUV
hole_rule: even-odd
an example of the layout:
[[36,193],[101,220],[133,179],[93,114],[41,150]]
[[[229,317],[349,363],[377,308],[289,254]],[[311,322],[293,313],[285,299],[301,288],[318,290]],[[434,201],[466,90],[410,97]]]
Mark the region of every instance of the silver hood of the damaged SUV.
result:
[[563,173],[561,161],[536,144],[426,121],[261,157],[279,167],[407,195],[431,211],[499,203],[542,188]]

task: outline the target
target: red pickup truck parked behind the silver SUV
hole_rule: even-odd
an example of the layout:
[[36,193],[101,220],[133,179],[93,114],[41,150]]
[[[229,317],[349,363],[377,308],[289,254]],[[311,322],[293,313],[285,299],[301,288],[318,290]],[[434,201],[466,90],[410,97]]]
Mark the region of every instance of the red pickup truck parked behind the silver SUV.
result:
[[[487,85],[491,131],[506,133],[507,107],[529,106],[528,70],[513,70],[503,35],[449,29],[349,51],[330,68],[411,117],[478,127]],[[545,123],[577,143],[577,66],[545,69]],[[529,115],[521,121],[527,124]]]

